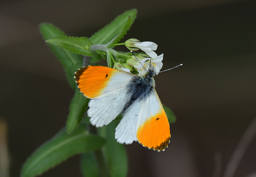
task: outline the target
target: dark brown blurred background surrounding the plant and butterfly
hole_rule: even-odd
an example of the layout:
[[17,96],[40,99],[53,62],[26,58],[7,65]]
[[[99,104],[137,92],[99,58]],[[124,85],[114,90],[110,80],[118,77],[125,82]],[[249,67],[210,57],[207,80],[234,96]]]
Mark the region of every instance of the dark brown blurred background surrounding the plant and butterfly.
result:
[[[122,41],[153,41],[156,53],[164,53],[163,69],[183,66],[155,77],[162,103],[177,117],[169,147],[158,153],[126,145],[129,176],[213,176],[216,154],[223,175],[256,116],[251,0],[1,1],[0,133],[7,127],[10,176],[19,176],[26,158],[65,126],[74,94],[38,25],[51,22],[70,36],[90,37],[131,8],[138,9],[137,19]],[[254,137],[235,177],[256,176],[255,149]],[[79,160],[74,156],[42,176],[81,176]]]

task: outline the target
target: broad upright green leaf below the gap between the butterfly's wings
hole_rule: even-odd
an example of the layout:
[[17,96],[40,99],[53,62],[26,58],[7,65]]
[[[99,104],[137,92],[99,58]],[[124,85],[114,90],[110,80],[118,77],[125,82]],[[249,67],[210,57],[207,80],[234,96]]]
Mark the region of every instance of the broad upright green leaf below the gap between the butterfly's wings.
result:
[[100,135],[107,140],[102,151],[111,177],[125,177],[128,172],[128,160],[124,144],[115,140],[115,128],[118,123],[119,119],[116,118],[108,125],[98,128]]

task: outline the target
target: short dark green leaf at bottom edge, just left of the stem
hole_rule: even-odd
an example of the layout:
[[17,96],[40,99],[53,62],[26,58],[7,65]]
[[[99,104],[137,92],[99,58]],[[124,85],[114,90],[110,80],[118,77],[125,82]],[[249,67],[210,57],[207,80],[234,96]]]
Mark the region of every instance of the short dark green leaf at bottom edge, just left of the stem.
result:
[[84,177],[98,177],[99,167],[94,152],[82,154],[81,169]]

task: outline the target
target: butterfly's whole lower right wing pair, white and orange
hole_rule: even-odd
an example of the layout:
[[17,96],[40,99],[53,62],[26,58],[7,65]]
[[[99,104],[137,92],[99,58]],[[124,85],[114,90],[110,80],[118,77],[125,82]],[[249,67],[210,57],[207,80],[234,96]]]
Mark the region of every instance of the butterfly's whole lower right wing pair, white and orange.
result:
[[115,138],[119,143],[138,141],[145,147],[162,151],[170,141],[170,127],[162,103],[152,86],[125,112],[116,127]]

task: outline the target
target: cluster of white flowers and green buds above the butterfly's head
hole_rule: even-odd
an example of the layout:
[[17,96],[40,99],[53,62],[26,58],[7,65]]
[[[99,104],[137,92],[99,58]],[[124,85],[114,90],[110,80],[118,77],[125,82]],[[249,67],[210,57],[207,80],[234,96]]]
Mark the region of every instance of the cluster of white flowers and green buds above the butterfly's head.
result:
[[145,53],[137,54],[136,57],[131,55],[125,63],[116,62],[114,68],[126,72],[137,71],[138,75],[144,76],[148,68],[153,67],[157,74],[163,66],[162,60],[164,54],[158,55],[153,51],[157,49],[157,44],[154,42],[140,42],[137,39],[129,39],[124,45],[132,50],[143,50]]

